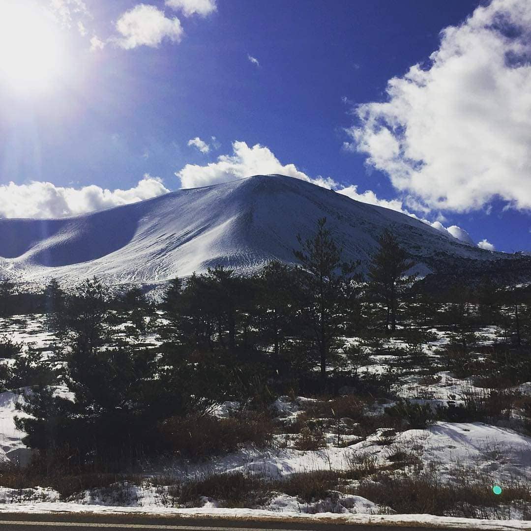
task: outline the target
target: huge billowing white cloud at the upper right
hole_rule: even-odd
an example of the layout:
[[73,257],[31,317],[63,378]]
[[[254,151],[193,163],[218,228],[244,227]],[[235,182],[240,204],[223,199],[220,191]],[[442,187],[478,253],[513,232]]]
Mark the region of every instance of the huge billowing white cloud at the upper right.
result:
[[531,209],[531,2],[493,0],[441,32],[427,65],[355,109],[346,149],[408,205],[466,212],[496,198]]

